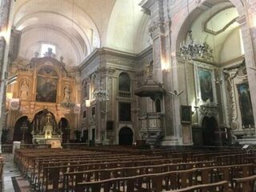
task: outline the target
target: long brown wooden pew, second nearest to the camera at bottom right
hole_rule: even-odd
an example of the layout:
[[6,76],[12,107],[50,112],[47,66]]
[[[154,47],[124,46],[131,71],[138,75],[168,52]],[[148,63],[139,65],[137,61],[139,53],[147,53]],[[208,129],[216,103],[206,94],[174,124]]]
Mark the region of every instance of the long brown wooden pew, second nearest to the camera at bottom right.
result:
[[[210,173],[213,173],[216,168],[218,168],[219,171],[218,175],[216,175],[215,173],[216,177],[214,178],[214,180],[212,180],[213,182],[222,181],[222,177],[230,179],[227,173],[229,173],[231,167],[233,169],[236,169],[238,166],[214,166],[205,168],[194,168],[190,170],[174,170],[158,174],[144,174],[126,178],[109,178],[102,181],[84,181],[78,182],[75,186],[75,190],[71,189],[69,191],[93,190],[95,192],[98,192],[101,189],[104,189],[104,191],[110,191],[109,186],[113,186],[113,190],[117,191],[162,191],[170,189],[177,190],[198,184],[209,184],[209,178],[214,178],[213,175],[211,175]],[[247,170],[249,170],[247,165],[245,165],[245,167],[247,167]],[[207,171],[205,172],[205,170]],[[208,173],[208,176],[205,173]],[[208,179],[205,179],[204,177],[207,177]],[[106,186],[108,186],[107,190]]]

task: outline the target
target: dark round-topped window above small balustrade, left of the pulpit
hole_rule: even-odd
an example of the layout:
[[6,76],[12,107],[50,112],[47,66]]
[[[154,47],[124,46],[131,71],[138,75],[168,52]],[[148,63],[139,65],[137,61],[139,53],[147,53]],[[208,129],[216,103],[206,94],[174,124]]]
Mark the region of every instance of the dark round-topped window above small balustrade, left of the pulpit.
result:
[[126,73],[121,73],[119,75],[118,82],[119,97],[130,98],[130,77]]

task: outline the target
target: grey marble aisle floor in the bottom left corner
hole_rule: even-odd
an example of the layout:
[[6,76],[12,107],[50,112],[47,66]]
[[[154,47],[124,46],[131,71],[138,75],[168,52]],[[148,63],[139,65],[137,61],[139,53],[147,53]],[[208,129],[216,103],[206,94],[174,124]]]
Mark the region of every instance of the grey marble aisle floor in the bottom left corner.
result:
[[[2,154],[4,158],[4,166],[3,166],[3,192],[14,192],[14,186],[12,183],[12,177],[18,177],[18,186],[20,186],[21,192],[29,192],[30,186],[29,182],[26,179],[22,178],[18,167],[14,164],[14,154]],[[18,192],[18,191],[16,191]]]

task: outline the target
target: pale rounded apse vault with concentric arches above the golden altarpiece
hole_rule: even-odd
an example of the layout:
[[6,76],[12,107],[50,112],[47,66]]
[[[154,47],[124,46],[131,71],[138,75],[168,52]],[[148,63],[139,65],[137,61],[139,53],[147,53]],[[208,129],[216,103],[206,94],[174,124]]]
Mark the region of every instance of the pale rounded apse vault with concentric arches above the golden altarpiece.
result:
[[[101,45],[97,21],[78,4],[66,0],[53,0],[50,3],[28,0],[18,4],[14,11],[14,27],[22,30],[21,53],[27,58],[38,50],[40,42],[50,41],[61,46],[58,57],[72,53],[64,57],[65,63],[79,65],[95,47]],[[54,38],[51,34],[54,34]]]

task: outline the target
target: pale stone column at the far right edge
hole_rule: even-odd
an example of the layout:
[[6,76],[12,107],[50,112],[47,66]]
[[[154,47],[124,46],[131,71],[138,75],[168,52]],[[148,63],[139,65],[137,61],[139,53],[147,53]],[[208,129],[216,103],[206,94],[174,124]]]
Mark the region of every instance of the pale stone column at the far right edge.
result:
[[256,125],[256,2],[254,0],[246,0],[244,2],[245,15],[240,16],[238,22],[242,30],[250,98],[252,101],[254,124]]

